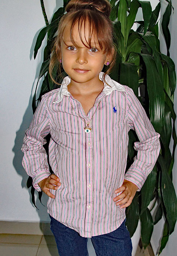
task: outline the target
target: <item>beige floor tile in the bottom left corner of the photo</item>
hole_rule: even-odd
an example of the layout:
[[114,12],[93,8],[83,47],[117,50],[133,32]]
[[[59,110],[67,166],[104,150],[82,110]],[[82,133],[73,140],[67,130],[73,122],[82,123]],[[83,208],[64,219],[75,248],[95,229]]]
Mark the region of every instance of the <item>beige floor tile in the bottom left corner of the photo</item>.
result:
[[35,244],[7,244],[0,243],[0,252],[2,256],[36,256],[38,245]]

